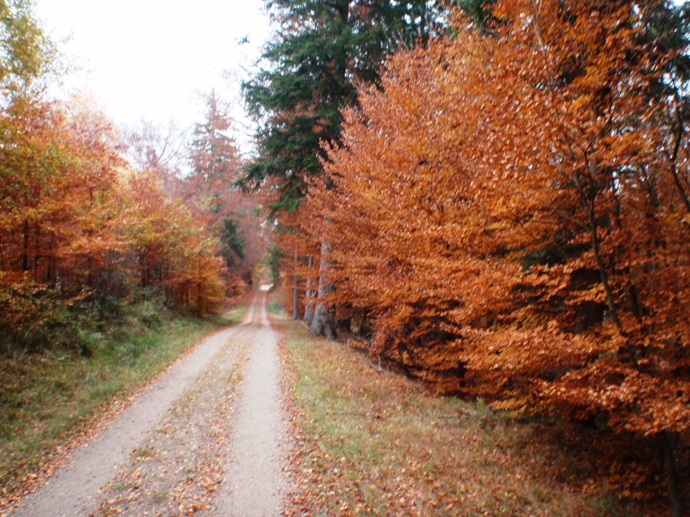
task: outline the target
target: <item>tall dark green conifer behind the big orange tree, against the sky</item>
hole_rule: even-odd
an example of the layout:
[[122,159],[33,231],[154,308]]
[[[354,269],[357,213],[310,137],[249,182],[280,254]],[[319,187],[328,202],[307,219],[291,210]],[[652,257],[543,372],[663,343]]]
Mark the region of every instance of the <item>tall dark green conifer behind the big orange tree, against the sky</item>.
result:
[[440,33],[441,1],[269,0],[280,22],[266,67],[243,83],[248,112],[259,123],[257,156],[241,180],[257,188],[273,179],[272,215],[293,211],[305,179],[321,173],[321,142],[339,140],[341,110],[357,99],[355,83],[378,85],[378,70],[399,44]]

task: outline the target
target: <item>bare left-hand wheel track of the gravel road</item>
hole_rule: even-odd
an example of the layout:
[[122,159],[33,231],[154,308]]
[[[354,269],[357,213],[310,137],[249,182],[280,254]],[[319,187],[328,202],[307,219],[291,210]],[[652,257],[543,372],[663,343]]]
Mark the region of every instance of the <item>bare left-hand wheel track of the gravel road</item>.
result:
[[252,322],[257,299],[255,296],[243,324],[218,331],[204,340],[183,361],[155,381],[102,434],[74,452],[70,463],[56,471],[40,489],[23,498],[19,507],[8,514],[19,517],[92,514],[100,502],[102,487],[118,475],[118,471],[134,456],[132,451],[150,436],[173,402],[193,385],[204,367],[238,329]]

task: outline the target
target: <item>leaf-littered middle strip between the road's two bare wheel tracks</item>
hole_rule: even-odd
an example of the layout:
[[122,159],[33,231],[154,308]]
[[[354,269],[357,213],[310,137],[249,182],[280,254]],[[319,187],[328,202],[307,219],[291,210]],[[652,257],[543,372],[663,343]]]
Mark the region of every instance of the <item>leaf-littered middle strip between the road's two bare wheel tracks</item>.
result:
[[252,338],[243,327],[214,356],[106,486],[96,516],[190,515],[212,506]]

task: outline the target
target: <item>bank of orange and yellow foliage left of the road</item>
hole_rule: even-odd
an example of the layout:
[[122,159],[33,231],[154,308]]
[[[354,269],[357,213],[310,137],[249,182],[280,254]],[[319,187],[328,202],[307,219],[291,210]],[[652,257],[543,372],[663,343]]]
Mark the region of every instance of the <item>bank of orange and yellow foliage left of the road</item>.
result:
[[162,286],[214,310],[216,240],[145,173],[125,170],[111,124],[89,108],[13,99],[0,112],[0,321],[23,340],[62,325],[65,302]]

